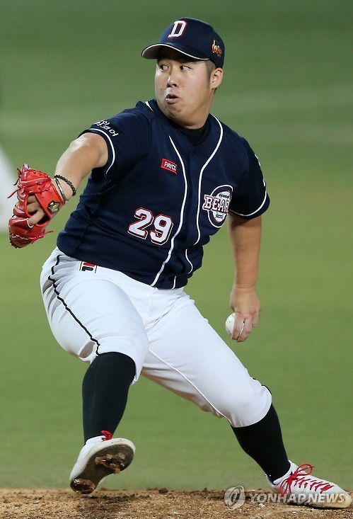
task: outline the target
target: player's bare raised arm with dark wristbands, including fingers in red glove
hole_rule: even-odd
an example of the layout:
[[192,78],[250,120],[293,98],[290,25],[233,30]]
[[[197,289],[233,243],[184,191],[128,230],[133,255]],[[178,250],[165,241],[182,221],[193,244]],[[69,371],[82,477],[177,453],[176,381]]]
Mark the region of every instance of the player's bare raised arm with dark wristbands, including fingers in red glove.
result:
[[[101,168],[107,164],[108,147],[105,139],[95,133],[84,133],[75,139],[62,154],[55,168],[55,175],[64,176],[71,182],[74,188],[79,188],[83,178],[95,168]],[[73,190],[65,181],[60,181],[66,200],[73,195]],[[45,215],[34,196],[28,198],[28,212],[31,217],[28,224],[35,225]]]

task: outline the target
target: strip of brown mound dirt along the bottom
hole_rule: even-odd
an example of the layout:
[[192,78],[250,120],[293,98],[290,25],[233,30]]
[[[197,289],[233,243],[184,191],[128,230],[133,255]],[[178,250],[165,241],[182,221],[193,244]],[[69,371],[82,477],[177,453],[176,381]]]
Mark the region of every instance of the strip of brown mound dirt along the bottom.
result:
[[[0,489],[0,519],[348,519],[353,508],[322,510],[283,503],[260,503],[247,491],[245,502],[234,510],[224,503],[224,491],[112,491],[91,496],[70,490]],[[259,492],[259,491],[257,491]],[[351,494],[352,495],[352,494]]]

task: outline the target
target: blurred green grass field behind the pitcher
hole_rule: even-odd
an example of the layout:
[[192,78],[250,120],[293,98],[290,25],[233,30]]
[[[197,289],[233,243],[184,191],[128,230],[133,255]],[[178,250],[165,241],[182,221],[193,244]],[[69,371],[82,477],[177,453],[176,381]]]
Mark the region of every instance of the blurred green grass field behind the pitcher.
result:
[[[53,171],[91,122],[153,97],[154,64],[139,56],[168,23],[194,16],[221,33],[213,112],[253,145],[272,198],[260,326],[238,345],[224,331],[226,229],[188,292],[272,390],[289,457],[352,489],[352,1],[0,0],[0,13],[0,138],[14,175],[23,162]],[[27,249],[0,234],[0,486],[66,486],[81,448],[86,367],[55,343],[38,287],[70,206]],[[226,421],[149,381],[132,387],[120,435],[136,443],[136,459],[106,486],[265,484]]]

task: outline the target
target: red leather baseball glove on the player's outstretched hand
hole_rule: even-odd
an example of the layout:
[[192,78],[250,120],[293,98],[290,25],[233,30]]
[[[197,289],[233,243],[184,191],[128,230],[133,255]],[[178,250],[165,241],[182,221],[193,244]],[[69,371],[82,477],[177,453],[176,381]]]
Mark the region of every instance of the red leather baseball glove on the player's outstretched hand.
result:
[[[23,164],[21,170],[17,171],[18,187],[10,197],[17,193],[18,203],[13,207],[13,216],[8,221],[8,232],[11,245],[20,249],[47,234],[45,228],[64,205],[64,200],[54,188],[52,178],[46,173],[32,169],[27,164]],[[45,217],[32,227],[28,224],[30,213],[27,210],[30,195],[35,196],[37,203],[45,212]]]

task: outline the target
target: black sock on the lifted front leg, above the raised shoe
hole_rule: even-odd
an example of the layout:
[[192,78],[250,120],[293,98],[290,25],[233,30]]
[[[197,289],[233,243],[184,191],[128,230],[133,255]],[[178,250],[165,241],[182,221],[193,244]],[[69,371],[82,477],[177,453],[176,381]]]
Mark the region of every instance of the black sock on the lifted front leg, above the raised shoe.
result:
[[134,361],[123,353],[103,353],[93,360],[82,384],[85,443],[89,438],[100,436],[102,430],[115,432],[124,414],[134,375]]

